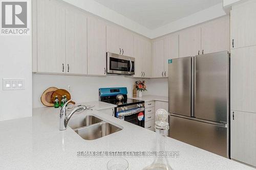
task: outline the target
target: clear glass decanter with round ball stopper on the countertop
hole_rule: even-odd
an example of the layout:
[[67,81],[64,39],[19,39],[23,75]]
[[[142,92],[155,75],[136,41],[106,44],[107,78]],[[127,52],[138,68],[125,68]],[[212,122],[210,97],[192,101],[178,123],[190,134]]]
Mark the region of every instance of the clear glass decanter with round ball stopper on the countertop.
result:
[[[164,109],[158,109],[156,111],[156,117],[158,118],[158,120],[155,122],[157,153],[164,153],[166,147],[167,132],[169,130],[169,124],[165,122],[166,118],[168,117],[168,113]],[[157,156],[154,162],[151,165],[143,168],[143,170],[173,170],[173,168],[170,167],[166,157]]]

